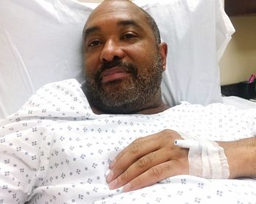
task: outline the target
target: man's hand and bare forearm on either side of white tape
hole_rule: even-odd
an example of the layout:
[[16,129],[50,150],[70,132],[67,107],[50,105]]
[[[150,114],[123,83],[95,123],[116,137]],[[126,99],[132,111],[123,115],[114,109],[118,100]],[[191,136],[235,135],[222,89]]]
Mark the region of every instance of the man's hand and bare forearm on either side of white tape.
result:
[[[177,139],[182,138],[175,131],[162,130],[133,141],[110,164],[106,177],[110,189],[124,186],[128,192],[170,176],[189,174],[189,149],[174,145]],[[225,151],[229,178],[256,176],[256,137],[217,143]]]

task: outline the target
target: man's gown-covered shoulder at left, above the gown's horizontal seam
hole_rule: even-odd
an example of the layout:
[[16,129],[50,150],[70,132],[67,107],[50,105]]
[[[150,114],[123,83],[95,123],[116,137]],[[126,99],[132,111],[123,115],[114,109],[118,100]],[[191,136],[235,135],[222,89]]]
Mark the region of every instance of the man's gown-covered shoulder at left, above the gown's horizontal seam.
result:
[[39,88],[22,108],[19,117],[76,118],[91,111],[86,95],[76,79],[52,82]]

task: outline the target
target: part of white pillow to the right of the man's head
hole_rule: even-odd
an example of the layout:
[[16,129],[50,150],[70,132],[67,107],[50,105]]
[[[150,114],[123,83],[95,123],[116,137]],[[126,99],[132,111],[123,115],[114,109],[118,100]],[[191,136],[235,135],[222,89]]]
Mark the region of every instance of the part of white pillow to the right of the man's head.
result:
[[162,82],[165,103],[222,102],[218,60],[234,32],[222,0],[149,2],[143,8],[169,45]]

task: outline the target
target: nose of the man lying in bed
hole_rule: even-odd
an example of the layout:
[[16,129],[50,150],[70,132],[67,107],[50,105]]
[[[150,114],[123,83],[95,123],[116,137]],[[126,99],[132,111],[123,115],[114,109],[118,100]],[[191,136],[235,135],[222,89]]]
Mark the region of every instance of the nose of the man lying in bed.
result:
[[114,58],[121,59],[124,58],[124,50],[118,42],[108,40],[107,42],[105,42],[99,58],[101,62],[110,62]]

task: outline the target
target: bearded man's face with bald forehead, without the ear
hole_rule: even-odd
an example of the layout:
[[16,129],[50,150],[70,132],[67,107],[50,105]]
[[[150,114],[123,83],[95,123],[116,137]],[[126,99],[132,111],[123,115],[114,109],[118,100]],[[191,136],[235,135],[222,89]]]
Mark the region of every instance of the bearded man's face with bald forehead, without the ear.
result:
[[143,12],[126,1],[106,1],[89,17],[84,35],[86,96],[91,106],[122,114],[151,106],[163,68]]

